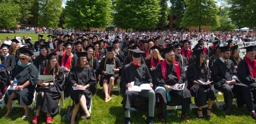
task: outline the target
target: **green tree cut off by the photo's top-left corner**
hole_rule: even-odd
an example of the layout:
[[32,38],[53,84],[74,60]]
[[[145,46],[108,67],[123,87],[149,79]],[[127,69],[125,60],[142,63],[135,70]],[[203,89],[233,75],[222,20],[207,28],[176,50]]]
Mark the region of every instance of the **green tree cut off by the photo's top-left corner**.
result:
[[14,28],[19,23],[21,17],[19,5],[11,1],[2,1],[0,3],[0,27]]

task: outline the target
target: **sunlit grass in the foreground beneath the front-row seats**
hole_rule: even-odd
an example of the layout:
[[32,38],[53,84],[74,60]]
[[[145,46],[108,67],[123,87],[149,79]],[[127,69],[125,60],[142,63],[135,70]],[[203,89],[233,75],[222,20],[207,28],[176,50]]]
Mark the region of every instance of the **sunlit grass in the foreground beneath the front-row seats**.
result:
[[[104,94],[102,88],[99,87],[97,93],[93,96],[93,107],[92,107],[92,118],[78,119],[76,123],[124,123],[124,112],[122,109],[122,94],[114,91],[112,94],[112,100],[108,103],[103,101]],[[192,98],[194,101],[194,98]],[[218,100],[223,100],[222,95],[218,95]],[[66,114],[67,106],[69,105],[70,99],[65,100],[65,106],[62,107],[61,113],[53,116],[54,123],[69,123],[68,120],[62,120],[62,116]],[[72,104],[72,101],[71,101]],[[12,113],[9,117],[2,117],[6,113],[6,107],[0,111],[0,123],[30,123],[34,116],[34,109],[30,110],[30,116],[23,120],[21,117],[24,114],[23,108],[13,108]],[[188,117],[190,118],[190,123],[256,123],[249,115],[246,107],[237,108],[233,106],[232,115],[226,116],[223,110],[219,110],[216,105],[212,107],[212,117],[210,120],[198,119],[196,115],[196,109],[193,109]],[[172,115],[167,117],[168,123],[185,123],[181,118],[181,110],[168,110]],[[203,109],[204,115],[206,115],[206,109]],[[155,123],[160,123],[157,118],[158,110],[155,110]],[[131,114],[131,121],[133,123],[145,123],[147,112],[134,111]],[[45,123],[46,114],[40,113],[39,123]]]

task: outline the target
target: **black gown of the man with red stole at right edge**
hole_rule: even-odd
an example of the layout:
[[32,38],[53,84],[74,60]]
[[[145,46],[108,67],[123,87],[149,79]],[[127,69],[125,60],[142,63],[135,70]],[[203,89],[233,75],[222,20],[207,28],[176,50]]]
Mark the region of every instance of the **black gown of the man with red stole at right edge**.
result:
[[248,64],[245,59],[241,60],[238,64],[238,79],[245,85],[247,85],[252,93],[254,104],[256,104],[256,83],[255,78],[251,77]]

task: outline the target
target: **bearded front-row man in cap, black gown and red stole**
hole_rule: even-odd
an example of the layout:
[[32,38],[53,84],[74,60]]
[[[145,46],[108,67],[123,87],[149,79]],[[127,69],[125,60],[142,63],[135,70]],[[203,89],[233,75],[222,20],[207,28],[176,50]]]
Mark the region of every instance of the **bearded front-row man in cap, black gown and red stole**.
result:
[[[172,90],[173,85],[187,83],[186,73],[184,69],[175,61],[175,54],[173,47],[166,47],[162,49],[164,53],[164,60],[156,68],[158,73],[155,73],[156,88],[156,105],[159,111],[159,120],[166,122],[166,107],[167,103],[181,104],[181,118],[186,122],[189,119],[186,114],[190,108],[190,91],[184,87],[183,90]],[[169,94],[169,95],[168,95]],[[168,99],[170,96],[170,100]]]

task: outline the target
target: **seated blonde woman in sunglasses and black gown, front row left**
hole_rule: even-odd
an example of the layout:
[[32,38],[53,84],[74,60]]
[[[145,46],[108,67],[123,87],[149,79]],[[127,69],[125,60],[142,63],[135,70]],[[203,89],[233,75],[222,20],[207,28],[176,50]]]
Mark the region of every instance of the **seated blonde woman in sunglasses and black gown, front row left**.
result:
[[18,100],[18,104],[25,109],[25,114],[22,118],[26,118],[29,115],[28,105],[31,105],[33,102],[33,94],[38,80],[38,70],[34,64],[29,62],[33,53],[27,49],[23,49],[20,53],[20,61],[18,61],[16,67],[12,70],[10,77],[10,85],[14,86],[13,80],[16,78],[18,82],[17,87],[15,90],[8,90],[5,94],[7,112],[4,116],[10,115],[12,101]]

